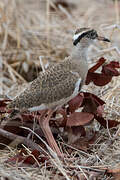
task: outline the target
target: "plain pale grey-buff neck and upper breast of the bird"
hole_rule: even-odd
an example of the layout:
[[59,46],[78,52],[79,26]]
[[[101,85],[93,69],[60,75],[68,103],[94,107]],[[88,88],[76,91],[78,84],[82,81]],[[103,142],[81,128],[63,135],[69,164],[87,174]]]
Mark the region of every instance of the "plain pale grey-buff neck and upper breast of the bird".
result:
[[71,60],[76,64],[77,69],[80,73],[80,76],[85,79],[88,72],[88,63],[87,63],[87,50],[86,46],[75,46],[71,53]]

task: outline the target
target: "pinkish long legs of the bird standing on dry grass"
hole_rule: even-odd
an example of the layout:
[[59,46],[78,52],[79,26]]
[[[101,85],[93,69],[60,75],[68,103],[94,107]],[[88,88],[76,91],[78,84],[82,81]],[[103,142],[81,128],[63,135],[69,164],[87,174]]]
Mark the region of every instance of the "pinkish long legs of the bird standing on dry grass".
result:
[[[46,113],[48,114],[47,117],[45,117]],[[42,118],[40,118],[39,124],[40,124],[40,127],[47,139],[49,146],[53,149],[53,151],[55,151],[57,153],[58,156],[63,157],[63,154],[60,152],[60,149],[53,137],[53,134],[52,134],[50,126],[49,126],[49,120],[50,120],[50,117],[52,116],[52,114],[53,114],[53,110],[46,111],[44,113],[44,117],[43,117],[43,115],[41,116]]]

